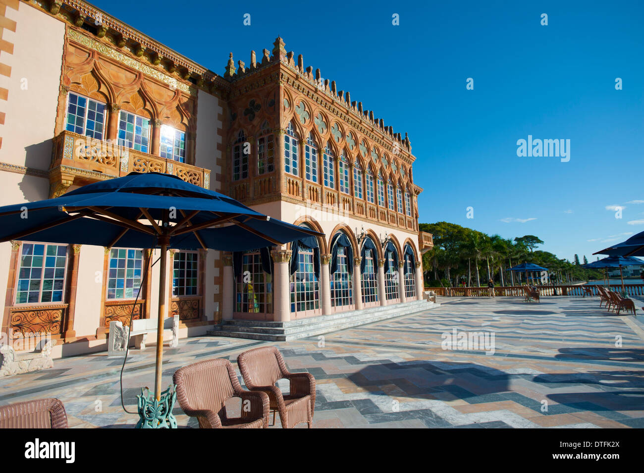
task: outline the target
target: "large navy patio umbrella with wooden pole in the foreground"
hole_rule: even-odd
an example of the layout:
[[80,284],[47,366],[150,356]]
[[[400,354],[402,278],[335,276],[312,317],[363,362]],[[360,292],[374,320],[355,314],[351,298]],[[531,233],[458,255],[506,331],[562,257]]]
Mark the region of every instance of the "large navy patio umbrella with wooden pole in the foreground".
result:
[[[0,241],[160,248],[158,327],[166,312],[170,248],[243,251],[321,235],[256,212],[171,174],[131,172],[55,199],[0,207]],[[161,393],[163,331],[157,331],[155,397]]]

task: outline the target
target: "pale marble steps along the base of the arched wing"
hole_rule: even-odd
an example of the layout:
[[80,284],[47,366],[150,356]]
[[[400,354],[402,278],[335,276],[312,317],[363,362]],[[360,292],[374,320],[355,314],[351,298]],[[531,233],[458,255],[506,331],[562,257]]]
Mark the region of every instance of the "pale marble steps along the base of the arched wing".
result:
[[430,301],[412,301],[391,306],[377,306],[363,310],[317,315],[287,322],[266,322],[260,320],[222,320],[220,326],[208,330],[214,337],[233,337],[236,339],[266,340],[287,342],[289,340],[312,337],[321,333],[372,324],[381,320],[393,319],[403,315],[424,312],[440,306]]

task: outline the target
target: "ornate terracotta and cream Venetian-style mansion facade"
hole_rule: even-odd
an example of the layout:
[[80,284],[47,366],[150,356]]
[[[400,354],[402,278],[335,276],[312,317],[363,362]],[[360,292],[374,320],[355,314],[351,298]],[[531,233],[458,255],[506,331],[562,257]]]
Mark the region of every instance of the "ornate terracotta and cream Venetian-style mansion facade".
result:
[[[325,234],[240,254],[171,251],[180,337],[422,299],[432,241],[418,230],[407,134],[281,38],[249,64],[231,53],[219,75],[81,0],[0,0],[0,34],[0,205],[167,172]],[[158,253],[1,243],[5,342],[48,333],[56,356],[106,349],[109,322],[154,317]]]

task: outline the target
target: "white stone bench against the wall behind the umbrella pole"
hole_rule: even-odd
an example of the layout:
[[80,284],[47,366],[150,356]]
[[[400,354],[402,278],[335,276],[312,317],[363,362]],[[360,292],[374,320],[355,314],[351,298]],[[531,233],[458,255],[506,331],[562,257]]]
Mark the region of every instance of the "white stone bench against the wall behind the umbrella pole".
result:
[[[163,330],[172,331],[171,347],[179,343],[179,316],[166,317],[163,322]],[[125,355],[129,345],[129,339],[134,337],[134,346],[137,349],[146,349],[146,338],[148,333],[156,335],[156,319],[132,320],[132,330],[124,327],[120,320],[109,322],[108,356]]]

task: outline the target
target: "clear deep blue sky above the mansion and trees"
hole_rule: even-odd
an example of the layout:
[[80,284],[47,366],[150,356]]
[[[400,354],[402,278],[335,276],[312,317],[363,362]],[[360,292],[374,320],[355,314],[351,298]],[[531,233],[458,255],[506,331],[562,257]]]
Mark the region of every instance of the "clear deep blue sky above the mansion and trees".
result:
[[[421,223],[533,234],[569,259],[644,231],[642,2],[93,3],[220,74],[281,35],[409,134]],[[570,140],[569,162],[518,157],[529,134]]]

